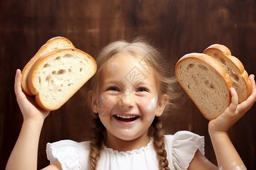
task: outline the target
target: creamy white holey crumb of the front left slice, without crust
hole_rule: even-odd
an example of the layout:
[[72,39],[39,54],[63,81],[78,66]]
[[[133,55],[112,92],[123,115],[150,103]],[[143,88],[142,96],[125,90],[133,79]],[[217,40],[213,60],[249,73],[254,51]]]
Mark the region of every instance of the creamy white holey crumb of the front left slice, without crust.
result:
[[62,105],[94,74],[86,58],[76,52],[48,57],[35,74],[40,100],[49,108]]

